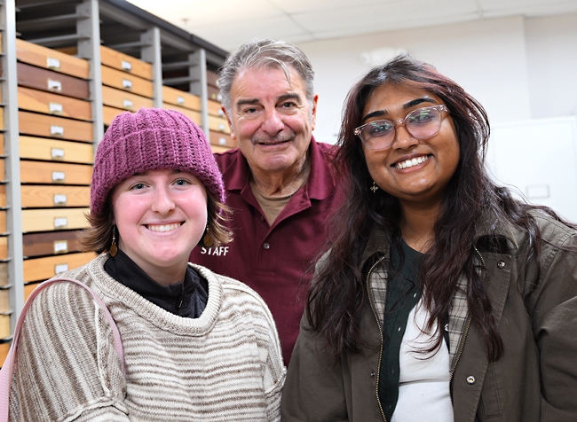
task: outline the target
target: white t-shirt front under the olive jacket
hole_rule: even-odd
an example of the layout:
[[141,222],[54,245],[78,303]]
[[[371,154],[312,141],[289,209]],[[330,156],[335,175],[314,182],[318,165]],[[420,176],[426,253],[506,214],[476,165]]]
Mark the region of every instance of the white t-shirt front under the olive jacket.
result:
[[408,316],[399,352],[399,401],[391,422],[453,422],[447,344],[443,339],[436,353],[419,353],[434,340],[424,332],[429,317],[421,301]]

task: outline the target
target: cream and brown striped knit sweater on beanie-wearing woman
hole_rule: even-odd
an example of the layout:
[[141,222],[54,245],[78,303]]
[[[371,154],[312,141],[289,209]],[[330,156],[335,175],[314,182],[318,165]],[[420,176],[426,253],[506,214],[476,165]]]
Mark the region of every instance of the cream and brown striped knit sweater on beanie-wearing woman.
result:
[[285,379],[265,302],[248,286],[193,264],[209,282],[197,319],[175,316],[115,281],[102,254],[63,274],[107,303],[123,340],[89,293],[57,283],[30,306],[12,379],[13,422],[280,420]]

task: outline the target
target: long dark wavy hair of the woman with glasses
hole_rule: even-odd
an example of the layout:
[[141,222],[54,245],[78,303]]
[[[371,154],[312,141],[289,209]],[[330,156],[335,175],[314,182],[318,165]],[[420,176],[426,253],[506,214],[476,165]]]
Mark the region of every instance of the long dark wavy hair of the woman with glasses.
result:
[[[381,227],[391,243],[400,239],[399,200],[385,191],[373,193],[368,189],[373,181],[360,139],[353,133],[360,125],[369,96],[385,83],[426,90],[441,98],[454,121],[459,140],[459,163],[444,193],[439,219],[433,228],[433,243],[420,272],[423,303],[431,313],[428,329],[437,323],[436,334],[440,333],[458,279],[464,276],[468,280],[467,303],[472,323],[483,335],[489,358],[497,360],[502,355],[502,339],[483,284],[482,270],[475,263],[478,255],[475,234],[481,213],[489,213],[496,222],[509,222],[526,231],[532,259],[537,261],[541,233],[529,211],[540,208],[562,220],[548,207],[528,205],[514,199],[508,189],[494,184],[484,164],[490,129],[483,106],[433,66],[408,56],[399,56],[373,68],[353,86],[346,98],[335,164],[341,174],[348,175],[347,198],[332,224],[334,233],[328,261],[315,275],[308,293],[305,312],[310,330],[324,337],[335,357],[359,351],[367,344],[360,335],[361,311],[368,300],[360,268],[361,255],[369,232],[375,227]],[[441,335],[435,338],[437,342],[431,350],[442,341]]]

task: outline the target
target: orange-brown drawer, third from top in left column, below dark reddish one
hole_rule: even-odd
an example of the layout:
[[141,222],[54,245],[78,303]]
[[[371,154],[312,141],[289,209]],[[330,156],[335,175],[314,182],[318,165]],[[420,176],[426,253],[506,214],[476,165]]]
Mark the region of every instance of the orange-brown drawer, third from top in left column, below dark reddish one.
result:
[[18,87],[18,107],[29,112],[92,120],[91,103],[83,99],[64,97],[43,90]]

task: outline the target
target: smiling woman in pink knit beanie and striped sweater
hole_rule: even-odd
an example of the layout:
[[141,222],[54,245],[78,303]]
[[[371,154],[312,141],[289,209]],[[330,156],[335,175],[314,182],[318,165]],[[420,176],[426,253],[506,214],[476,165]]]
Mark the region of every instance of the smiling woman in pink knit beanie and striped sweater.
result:
[[[85,250],[99,256],[38,293],[22,324],[12,421],[279,420],[285,378],[265,302],[188,262],[230,232],[202,130],[181,113],[115,118],[99,144]],[[124,373],[125,372],[125,373]]]

